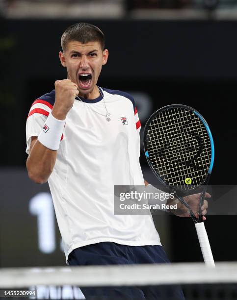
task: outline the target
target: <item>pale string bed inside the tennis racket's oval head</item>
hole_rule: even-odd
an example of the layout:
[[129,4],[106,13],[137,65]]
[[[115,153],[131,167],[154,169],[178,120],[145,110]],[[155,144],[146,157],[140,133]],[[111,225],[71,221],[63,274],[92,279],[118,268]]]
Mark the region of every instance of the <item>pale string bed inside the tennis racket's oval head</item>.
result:
[[[169,185],[190,189],[208,172],[211,142],[201,119],[185,108],[161,111],[148,125],[147,149],[156,172]],[[185,179],[192,184],[185,185]]]

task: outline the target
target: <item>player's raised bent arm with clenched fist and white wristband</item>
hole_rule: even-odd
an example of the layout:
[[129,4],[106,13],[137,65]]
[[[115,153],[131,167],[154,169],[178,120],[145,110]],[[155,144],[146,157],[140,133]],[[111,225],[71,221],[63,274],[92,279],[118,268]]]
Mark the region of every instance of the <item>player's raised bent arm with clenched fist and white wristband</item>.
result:
[[[41,131],[39,136],[31,137],[29,156],[26,161],[26,169],[29,178],[36,183],[47,182],[53,172],[57,158],[57,150],[64,126],[63,120],[73,106],[75,97],[78,95],[78,87],[70,79],[57,80],[55,82],[55,104],[53,110],[46,120],[47,130]],[[50,119],[49,119],[50,118]],[[48,123],[51,122],[51,125]],[[57,130],[57,127],[59,128]],[[53,141],[56,139],[56,141]],[[54,143],[55,142],[55,143]]]

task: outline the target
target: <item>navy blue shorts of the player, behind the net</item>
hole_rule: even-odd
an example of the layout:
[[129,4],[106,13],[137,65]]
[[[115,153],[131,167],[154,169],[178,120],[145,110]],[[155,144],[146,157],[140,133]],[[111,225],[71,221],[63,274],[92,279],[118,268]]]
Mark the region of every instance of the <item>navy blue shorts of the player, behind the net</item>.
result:
[[[70,266],[170,263],[161,246],[127,246],[102,242],[73,250]],[[179,286],[81,288],[86,299],[184,300]],[[100,296],[99,296],[100,295]]]

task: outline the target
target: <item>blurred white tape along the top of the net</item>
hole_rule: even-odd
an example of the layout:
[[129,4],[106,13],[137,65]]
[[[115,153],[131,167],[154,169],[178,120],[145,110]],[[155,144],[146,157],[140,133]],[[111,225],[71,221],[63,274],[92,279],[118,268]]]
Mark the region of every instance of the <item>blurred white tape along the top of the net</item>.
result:
[[132,286],[237,283],[237,262],[89,267],[2,268],[0,288],[35,285]]

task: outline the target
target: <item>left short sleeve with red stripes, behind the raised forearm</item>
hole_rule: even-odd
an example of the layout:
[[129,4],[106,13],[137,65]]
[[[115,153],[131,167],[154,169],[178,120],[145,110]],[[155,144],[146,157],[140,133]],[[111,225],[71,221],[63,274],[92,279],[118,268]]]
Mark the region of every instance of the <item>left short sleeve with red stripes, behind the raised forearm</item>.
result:
[[29,154],[31,137],[38,136],[52,111],[53,106],[44,100],[35,100],[26,121],[26,153]]

